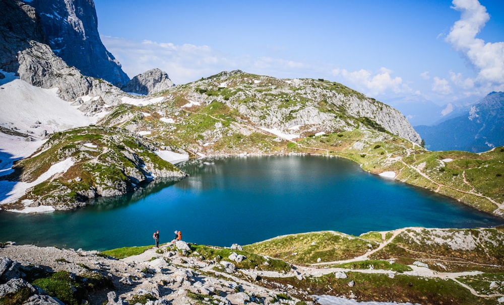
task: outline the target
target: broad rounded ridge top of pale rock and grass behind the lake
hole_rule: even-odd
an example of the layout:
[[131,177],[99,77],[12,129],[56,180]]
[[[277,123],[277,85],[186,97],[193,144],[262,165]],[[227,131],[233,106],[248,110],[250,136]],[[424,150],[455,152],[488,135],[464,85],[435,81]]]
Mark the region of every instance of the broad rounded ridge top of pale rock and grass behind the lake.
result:
[[421,139],[397,110],[341,84],[309,79],[281,80],[242,71],[222,72],[171,91],[198,109],[219,102],[250,123],[287,134],[348,131],[368,126],[417,144]]

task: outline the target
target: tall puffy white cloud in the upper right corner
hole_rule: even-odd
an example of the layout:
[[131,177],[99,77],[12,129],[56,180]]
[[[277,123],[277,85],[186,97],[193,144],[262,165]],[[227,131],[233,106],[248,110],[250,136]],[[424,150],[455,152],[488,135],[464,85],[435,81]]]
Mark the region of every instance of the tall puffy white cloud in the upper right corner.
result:
[[479,82],[504,84],[504,42],[487,42],[476,35],[490,19],[486,8],[477,0],[453,0],[461,19],[452,26],[446,40],[462,52],[478,72]]

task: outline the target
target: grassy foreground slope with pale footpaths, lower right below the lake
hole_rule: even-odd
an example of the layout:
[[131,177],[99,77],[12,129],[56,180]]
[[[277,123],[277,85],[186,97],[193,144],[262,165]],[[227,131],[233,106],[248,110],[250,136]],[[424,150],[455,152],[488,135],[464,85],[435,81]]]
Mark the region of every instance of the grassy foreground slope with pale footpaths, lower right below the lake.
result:
[[[288,235],[244,250],[306,266],[298,268],[303,278],[266,278],[272,286],[358,300],[495,304],[504,293],[503,245],[502,227],[405,228],[359,237],[337,232]],[[325,268],[336,269],[317,271]]]

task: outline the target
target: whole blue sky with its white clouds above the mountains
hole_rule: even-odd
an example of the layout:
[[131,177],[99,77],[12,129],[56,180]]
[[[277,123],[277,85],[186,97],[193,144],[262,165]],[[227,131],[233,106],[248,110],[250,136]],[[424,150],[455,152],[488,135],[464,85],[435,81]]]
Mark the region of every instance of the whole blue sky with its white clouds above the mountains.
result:
[[224,70],[340,82],[383,102],[473,102],[504,91],[504,1],[95,0],[132,78]]

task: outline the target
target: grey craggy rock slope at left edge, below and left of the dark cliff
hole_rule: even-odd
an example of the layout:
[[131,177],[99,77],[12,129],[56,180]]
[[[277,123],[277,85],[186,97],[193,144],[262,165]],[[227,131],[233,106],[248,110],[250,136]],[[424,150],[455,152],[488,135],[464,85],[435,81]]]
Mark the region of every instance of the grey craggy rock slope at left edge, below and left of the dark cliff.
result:
[[[124,93],[119,89],[102,79],[83,75],[80,69],[54,54],[42,30],[40,12],[19,1],[2,0],[0,4],[1,69],[15,72],[30,85],[58,88],[59,97],[66,101],[90,95],[101,96],[109,105],[120,102]],[[100,108],[94,105],[83,110],[92,113]]]

